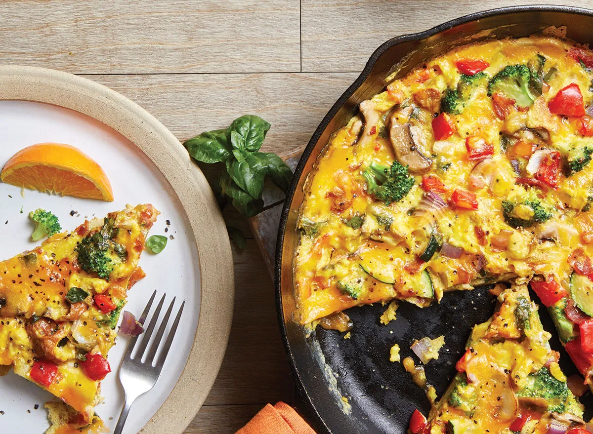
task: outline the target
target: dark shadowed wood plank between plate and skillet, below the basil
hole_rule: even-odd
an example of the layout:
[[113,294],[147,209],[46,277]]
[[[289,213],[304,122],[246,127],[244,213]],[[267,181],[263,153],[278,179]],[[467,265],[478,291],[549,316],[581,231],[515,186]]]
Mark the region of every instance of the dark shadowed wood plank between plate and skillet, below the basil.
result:
[[256,241],[247,240],[243,251],[233,245],[233,259],[235,310],[231,336],[205,404],[290,403],[292,381],[278,329],[273,283]]

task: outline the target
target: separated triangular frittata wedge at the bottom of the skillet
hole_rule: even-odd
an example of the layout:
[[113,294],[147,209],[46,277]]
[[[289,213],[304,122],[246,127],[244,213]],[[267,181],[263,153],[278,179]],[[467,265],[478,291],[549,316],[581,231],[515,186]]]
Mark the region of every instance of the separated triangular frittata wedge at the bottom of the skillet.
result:
[[498,302],[493,317],[474,327],[457,363],[458,374],[423,432],[496,434],[510,429],[527,434],[584,427],[583,406],[567,386],[527,286],[511,286]]

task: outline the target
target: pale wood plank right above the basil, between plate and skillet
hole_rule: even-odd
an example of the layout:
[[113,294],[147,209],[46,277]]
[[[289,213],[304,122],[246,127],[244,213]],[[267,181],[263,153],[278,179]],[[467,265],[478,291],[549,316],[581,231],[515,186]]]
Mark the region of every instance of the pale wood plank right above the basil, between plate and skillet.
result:
[[307,143],[329,108],[358,74],[96,75],[130,98],[180,141],[257,114],[272,124],[263,151]]

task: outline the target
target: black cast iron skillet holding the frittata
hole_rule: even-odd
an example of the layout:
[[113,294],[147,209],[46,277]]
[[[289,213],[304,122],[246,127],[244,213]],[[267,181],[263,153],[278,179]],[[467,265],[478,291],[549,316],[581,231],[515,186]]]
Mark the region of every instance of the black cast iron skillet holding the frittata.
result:
[[[422,33],[388,40],[372,54],[361,75],[315,130],[295,170],[282,211],[275,284],[280,330],[292,374],[306,404],[305,416],[318,433],[406,432],[413,410],[417,408],[428,414],[429,404],[401,363],[389,362],[390,347],[399,343],[403,359],[412,355],[406,343],[424,336],[444,335],[447,343],[441,356],[425,367],[428,382],[440,395],[455,372],[455,362],[464,352],[471,328],[487,320],[494,305],[487,292],[489,287],[483,286],[471,292],[448,293],[441,304],[433,303],[424,309],[403,303],[397,311],[397,320],[388,326],[379,322],[384,310],[381,305],[349,309],[347,313],[355,328],[348,340],[343,339],[343,333],[321,327],[307,336],[305,329],[292,321],[295,310],[292,260],[298,244],[296,221],[303,185],[315,159],[331,133],[356,114],[358,104],[384,89],[385,78],[391,73],[397,71],[396,78],[403,76],[415,65],[454,46],[488,37],[528,36],[551,25],[566,25],[566,36],[577,42],[593,42],[593,11],[562,6],[493,9],[457,18]],[[534,293],[532,296],[538,302]],[[544,327],[553,331],[546,309],[540,309],[540,316]],[[553,335],[551,345],[560,351],[565,372],[572,374],[575,368]],[[584,404],[591,413],[591,397]]]

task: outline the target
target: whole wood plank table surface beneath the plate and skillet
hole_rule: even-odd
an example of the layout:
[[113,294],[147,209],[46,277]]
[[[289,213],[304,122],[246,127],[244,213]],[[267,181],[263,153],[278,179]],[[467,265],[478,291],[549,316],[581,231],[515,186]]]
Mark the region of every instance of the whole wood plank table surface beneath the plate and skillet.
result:
[[[4,0],[0,62],[87,76],[140,104],[180,141],[227,127],[242,114],[258,114],[272,123],[262,149],[281,153],[308,142],[385,40],[514,4]],[[593,8],[593,0],[578,5]],[[248,233],[237,214],[225,214]],[[227,354],[187,434],[233,433],[264,404],[292,403],[294,397],[273,282],[256,242],[248,239],[247,248],[234,248],[233,256],[235,311]]]

